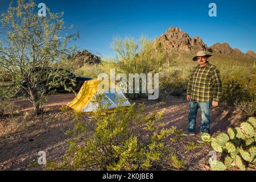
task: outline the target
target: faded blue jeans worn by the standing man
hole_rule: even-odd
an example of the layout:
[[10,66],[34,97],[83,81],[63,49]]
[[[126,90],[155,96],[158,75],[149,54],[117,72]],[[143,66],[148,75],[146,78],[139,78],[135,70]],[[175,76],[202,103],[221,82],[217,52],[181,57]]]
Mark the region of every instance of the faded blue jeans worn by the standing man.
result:
[[188,115],[188,131],[190,133],[196,133],[196,115],[197,110],[201,109],[201,133],[210,133],[210,106],[212,101],[209,102],[195,102],[193,100],[189,101],[189,115]]

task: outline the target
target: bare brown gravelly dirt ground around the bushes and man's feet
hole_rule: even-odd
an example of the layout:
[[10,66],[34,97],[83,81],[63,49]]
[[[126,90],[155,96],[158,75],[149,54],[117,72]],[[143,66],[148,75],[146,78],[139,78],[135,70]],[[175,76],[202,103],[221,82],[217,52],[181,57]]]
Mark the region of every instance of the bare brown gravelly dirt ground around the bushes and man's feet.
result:
[[[70,115],[63,114],[60,106],[66,105],[74,98],[74,94],[63,93],[49,97],[45,113],[40,117],[30,117],[32,109],[27,100],[15,101],[15,105],[22,108],[21,113],[0,118],[0,170],[26,170],[42,169],[37,165],[39,151],[46,151],[48,160],[59,159],[67,150],[67,135],[64,134],[72,128],[74,122]],[[169,96],[162,101],[149,101],[146,98],[135,102],[144,103],[146,110],[150,112],[154,107],[158,110],[166,109],[162,121],[167,127],[176,126],[179,130],[187,130],[188,102],[184,97]],[[211,133],[224,131],[230,125],[241,122],[241,115],[224,107],[211,109]],[[200,111],[197,117],[197,133],[200,128]],[[184,146],[188,142],[199,139],[199,133],[195,137],[184,137],[183,141],[176,143],[174,149],[179,158],[184,160],[188,170],[208,170],[207,158],[209,147],[199,148],[193,152],[185,151]]]

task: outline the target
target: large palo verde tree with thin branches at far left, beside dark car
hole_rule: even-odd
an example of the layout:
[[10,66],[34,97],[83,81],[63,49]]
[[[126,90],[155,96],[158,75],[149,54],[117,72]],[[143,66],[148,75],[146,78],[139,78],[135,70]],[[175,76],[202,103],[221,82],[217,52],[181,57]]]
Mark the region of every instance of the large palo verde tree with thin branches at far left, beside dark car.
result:
[[[78,36],[63,35],[72,28],[64,27],[63,13],[51,13],[47,8],[47,15],[39,16],[38,10],[34,0],[17,0],[17,5],[10,3],[0,18],[1,32],[5,35],[0,42],[2,74],[10,77],[12,89],[26,90],[35,114],[42,112],[46,88],[65,85],[67,75],[63,71],[47,68],[71,53],[68,43]],[[20,84],[22,81],[25,86]]]

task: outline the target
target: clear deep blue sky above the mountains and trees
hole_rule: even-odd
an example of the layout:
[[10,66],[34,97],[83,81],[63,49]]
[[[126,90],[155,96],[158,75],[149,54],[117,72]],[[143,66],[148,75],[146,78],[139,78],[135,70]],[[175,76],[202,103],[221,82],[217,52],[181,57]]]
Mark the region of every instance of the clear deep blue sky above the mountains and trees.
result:
[[[0,0],[0,13],[9,0]],[[65,25],[80,31],[76,44],[101,56],[113,56],[110,44],[114,37],[138,39],[159,37],[168,27],[180,27],[189,36],[199,36],[208,46],[228,42],[243,52],[256,52],[255,0],[36,0],[46,3],[52,12],[64,11]],[[208,5],[217,5],[217,17],[208,15]]]

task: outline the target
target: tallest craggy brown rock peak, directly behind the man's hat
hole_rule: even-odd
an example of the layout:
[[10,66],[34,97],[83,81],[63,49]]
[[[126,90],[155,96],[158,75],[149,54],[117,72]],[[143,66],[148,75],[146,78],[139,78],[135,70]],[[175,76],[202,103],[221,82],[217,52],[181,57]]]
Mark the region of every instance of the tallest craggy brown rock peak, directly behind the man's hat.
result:
[[191,38],[187,33],[177,27],[168,28],[165,34],[154,39],[153,45],[157,47],[159,44],[166,49],[167,52],[191,51],[192,47],[201,51],[208,49],[201,38],[198,36]]

